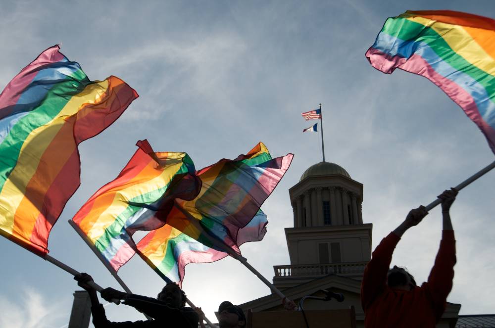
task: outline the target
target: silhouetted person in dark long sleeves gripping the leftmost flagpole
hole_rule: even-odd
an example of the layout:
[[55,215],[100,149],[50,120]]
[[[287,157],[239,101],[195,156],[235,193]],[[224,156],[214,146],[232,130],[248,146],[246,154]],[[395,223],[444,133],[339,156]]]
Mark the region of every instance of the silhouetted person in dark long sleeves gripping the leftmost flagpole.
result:
[[147,314],[154,320],[136,322],[110,322],[106,319],[105,310],[99,303],[95,288],[88,282],[93,281],[90,275],[81,274],[74,277],[78,285],[86,289],[91,299],[91,314],[95,328],[197,328],[198,314],[186,307],[186,294],[175,283],[167,283],[157,298],[128,294],[113,288],[105,288],[101,291],[101,297],[111,302],[112,299],[124,300],[124,304],[130,305],[140,312]]

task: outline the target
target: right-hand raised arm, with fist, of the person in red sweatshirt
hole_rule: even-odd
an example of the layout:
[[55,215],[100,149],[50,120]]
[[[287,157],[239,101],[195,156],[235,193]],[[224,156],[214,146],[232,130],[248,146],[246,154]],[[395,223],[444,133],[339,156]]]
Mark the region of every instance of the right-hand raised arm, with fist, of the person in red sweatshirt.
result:
[[440,319],[445,311],[446,299],[452,289],[452,280],[454,278],[454,265],[456,262],[455,238],[449,210],[456,195],[457,190],[451,188],[438,196],[442,200],[442,241],[435,259],[435,265],[430,272],[430,277],[428,277],[428,283],[425,287],[429,290],[437,319]]

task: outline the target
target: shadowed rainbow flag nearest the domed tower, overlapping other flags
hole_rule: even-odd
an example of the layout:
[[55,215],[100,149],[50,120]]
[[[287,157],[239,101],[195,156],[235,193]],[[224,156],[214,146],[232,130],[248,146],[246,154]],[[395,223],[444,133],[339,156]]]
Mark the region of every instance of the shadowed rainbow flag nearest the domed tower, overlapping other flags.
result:
[[[275,189],[289,169],[292,158],[293,154],[287,154],[272,159],[260,142],[246,155],[235,160],[222,159],[199,170],[201,189],[198,196],[193,200],[179,199],[176,207],[186,214],[187,222],[198,220],[202,230],[241,254],[237,240],[239,230],[247,226]],[[197,231],[191,234],[179,224],[174,227],[198,238]],[[200,241],[215,248],[207,238]]]

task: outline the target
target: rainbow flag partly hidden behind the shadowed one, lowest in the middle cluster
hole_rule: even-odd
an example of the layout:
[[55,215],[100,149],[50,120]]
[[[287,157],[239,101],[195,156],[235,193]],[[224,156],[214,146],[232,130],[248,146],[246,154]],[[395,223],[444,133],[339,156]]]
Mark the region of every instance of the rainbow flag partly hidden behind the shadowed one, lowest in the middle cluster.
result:
[[[266,234],[266,215],[259,210],[249,224],[239,230],[239,246],[248,241],[259,241]],[[163,280],[182,285],[185,267],[189,263],[211,263],[228,254],[207,247],[166,224],[149,232],[138,243],[138,254]]]

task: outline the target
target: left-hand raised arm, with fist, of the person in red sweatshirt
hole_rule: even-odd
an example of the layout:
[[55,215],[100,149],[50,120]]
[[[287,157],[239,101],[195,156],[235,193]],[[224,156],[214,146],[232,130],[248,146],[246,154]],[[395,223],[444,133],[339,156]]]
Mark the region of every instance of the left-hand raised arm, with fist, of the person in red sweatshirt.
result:
[[392,254],[400,237],[409,228],[419,224],[427,214],[424,206],[410,210],[404,222],[383,238],[373,251],[371,261],[364,269],[363,281],[361,282],[361,303],[365,311],[387,285],[387,273],[392,261]]

